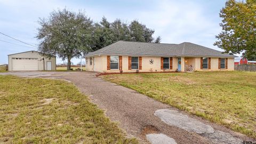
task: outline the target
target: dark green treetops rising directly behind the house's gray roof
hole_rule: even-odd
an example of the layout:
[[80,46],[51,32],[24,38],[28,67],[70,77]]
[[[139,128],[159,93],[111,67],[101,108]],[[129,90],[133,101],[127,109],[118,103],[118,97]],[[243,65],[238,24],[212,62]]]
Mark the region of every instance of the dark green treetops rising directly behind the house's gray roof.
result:
[[154,39],[154,33],[154,30],[147,28],[146,25],[143,25],[137,20],[133,20],[130,24],[127,24],[120,19],[116,19],[114,22],[108,22],[103,17],[99,23],[94,24],[91,47],[93,51],[96,51],[117,41],[160,43],[161,37],[158,36]]

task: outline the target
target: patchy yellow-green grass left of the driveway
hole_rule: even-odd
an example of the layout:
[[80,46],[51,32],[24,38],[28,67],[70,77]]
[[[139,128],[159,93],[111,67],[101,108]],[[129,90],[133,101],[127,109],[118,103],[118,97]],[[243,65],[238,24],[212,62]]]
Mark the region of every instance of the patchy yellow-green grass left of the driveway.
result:
[[0,76],[0,143],[138,143],[68,82]]

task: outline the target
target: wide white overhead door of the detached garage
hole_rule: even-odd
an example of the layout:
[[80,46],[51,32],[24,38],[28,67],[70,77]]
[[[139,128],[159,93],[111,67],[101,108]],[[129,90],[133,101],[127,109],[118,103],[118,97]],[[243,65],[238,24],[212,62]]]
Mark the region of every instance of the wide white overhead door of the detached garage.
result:
[[12,70],[38,70],[36,58],[13,58]]

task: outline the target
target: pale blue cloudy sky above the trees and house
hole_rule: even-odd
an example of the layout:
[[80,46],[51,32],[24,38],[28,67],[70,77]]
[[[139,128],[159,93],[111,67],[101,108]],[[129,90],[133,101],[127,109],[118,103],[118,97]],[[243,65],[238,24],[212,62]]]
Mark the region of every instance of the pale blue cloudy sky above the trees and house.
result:
[[[38,18],[44,18],[53,10],[85,10],[87,16],[100,21],[105,16],[109,21],[119,18],[125,22],[138,20],[154,29],[154,37],[162,37],[162,43],[191,42],[221,50],[213,46],[215,35],[219,34],[220,9],[225,0],[195,1],[19,1],[0,0],[0,32],[18,38],[32,45],[37,45],[35,38]],[[14,45],[11,42],[19,45]],[[7,54],[37,50],[23,46],[11,38],[0,34],[0,63],[7,63]],[[77,59],[72,60],[74,63]],[[57,60],[61,63],[61,59]]]

